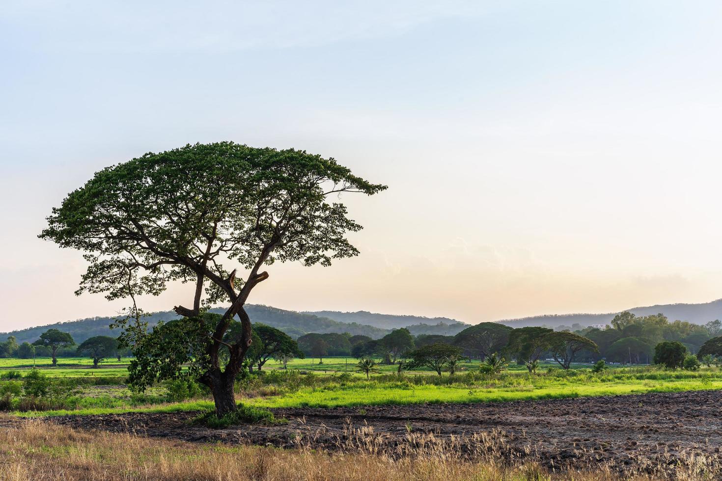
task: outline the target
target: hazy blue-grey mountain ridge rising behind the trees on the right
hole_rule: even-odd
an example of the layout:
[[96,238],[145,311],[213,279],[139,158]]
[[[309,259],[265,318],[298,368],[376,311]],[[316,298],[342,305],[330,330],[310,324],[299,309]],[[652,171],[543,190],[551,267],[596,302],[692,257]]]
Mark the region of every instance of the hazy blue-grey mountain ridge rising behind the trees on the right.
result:
[[[703,325],[715,319],[722,319],[722,299],[705,302],[703,304],[656,304],[654,306],[622,309],[622,311],[629,311],[635,314],[635,316],[648,316],[661,312],[671,321],[680,320]],[[502,319],[497,322],[510,327],[543,325],[547,327],[557,327],[560,325],[571,326],[573,324],[589,327],[595,324],[609,324],[619,312],[609,312],[606,314],[547,314],[542,316],[521,317],[518,319]]]

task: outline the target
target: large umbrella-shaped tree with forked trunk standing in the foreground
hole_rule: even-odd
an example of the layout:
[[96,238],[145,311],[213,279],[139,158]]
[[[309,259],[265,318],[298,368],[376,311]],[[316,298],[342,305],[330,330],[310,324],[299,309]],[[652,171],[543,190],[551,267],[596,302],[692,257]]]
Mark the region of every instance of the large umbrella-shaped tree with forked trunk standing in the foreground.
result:
[[[361,226],[336,199],[385,188],[305,151],[195,144],[97,172],[53,209],[40,237],[86,252],[89,265],[77,294],[129,299],[129,315],[119,324],[121,341],[136,354],[130,366],[136,387],[178,376],[178,366],[160,359],[192,363],[213,394],[217,415],[225,415],[237,409],[233,385],[251,344],[243,306],[269,277],[264,265],[331,265],[357,255],[346,234]],[[223,265],[229,261],[247,270],[245,278]],[[139,295],[160,294],[172,281],[195,284],[191,303],[174,308],[188,320],[173,324],[177,332],[169,332],[170,323],[162,329],[175,345],[147,332],[136,304]],[[226,303],[224,314],[207,323],[204,309],[220,302]],[[242,329],[227,342],[235,317]],[[191,357],[183,346],[192,343],[199,350]],[[222,347],[227,361],[219,356]]]

